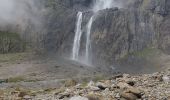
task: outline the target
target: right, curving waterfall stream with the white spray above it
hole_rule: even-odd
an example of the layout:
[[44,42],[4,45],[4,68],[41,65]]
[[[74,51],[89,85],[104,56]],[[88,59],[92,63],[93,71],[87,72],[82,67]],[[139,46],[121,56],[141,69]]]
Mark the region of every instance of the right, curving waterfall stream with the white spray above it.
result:
[[90,42],[90,34],[91,34],[91,27],[93,24],[94,16],[99,10],[106,9],[106,8],[112,8],[113,0],[96,0],[94,2],[93,6],[93,16],[90,18],[88,24],[87,24],[87,33],[86,33],[86,56],[85,61],[86,63],[90,64],[90,57],[89,57],[89,51],[91,49],[91,42]]

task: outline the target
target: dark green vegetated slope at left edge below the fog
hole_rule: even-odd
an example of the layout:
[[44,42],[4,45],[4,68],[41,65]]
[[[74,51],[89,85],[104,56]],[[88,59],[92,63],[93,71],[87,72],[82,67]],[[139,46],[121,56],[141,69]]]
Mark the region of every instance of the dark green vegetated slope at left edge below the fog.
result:
[[25,42],[21,40],[19,34],[0,31],[0,53],[15,53],[25,50]]

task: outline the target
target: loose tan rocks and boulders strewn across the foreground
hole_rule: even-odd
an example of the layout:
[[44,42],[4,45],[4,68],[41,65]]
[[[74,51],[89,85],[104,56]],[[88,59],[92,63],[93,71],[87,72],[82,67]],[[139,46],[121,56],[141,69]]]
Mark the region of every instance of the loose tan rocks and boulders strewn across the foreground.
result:
[[170,69],[153,74],[117,74],[109,79],[78,83],[64,80],[60,88],[0,91],[1,100],[169,100]]

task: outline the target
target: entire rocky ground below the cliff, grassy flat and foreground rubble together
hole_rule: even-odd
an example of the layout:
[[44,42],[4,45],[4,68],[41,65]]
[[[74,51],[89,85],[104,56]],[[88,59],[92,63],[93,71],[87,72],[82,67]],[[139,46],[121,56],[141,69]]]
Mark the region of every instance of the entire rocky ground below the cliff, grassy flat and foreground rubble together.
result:
[[0,100],[170,99],[169,56],[161,56],[164,71],[110,76],[68,60],[26,56],[0,55]]

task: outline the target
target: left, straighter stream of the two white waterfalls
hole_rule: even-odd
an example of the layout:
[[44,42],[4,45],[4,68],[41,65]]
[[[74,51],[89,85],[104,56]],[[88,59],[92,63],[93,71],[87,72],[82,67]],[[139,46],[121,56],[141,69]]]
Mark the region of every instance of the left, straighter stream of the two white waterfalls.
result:
[[76,29],[75,29],[75,37],[74,37],[74,44],[73,44],[73,50],[72,50],[72,59],[78,60],[79,57],[79,50],[80,50],[80,42],[81,42],[81,24],[82,24],[82,12],[78,12],[77,14],[77,23],[76,23]]

